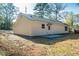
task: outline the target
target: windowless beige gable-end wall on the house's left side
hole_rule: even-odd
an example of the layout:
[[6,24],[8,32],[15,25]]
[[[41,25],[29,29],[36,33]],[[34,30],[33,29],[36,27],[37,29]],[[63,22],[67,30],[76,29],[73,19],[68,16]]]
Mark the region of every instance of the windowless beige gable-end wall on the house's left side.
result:
[[13,31],[16,34],[31,35],[30,21],[26,20],[25,17],[20,17],[14,24]]

